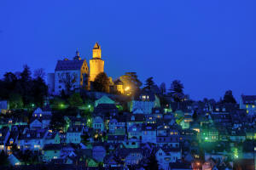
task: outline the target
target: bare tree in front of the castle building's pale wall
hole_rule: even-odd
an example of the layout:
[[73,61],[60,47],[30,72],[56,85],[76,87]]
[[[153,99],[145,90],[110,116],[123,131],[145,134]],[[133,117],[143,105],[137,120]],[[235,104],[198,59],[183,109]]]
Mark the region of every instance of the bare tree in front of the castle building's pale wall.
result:
[[70,72],[61,73],[59,78],[64,83],[67,94],[71,92],[73,85],[78,81],[78,75],[76,73],[71,74]]

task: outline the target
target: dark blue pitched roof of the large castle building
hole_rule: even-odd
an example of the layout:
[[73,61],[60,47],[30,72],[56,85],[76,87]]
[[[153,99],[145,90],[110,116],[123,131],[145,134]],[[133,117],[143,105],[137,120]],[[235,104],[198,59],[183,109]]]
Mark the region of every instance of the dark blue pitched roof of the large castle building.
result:
[[85,59],[81,60],[58,60],[55,71],[75,71],[80,70]]

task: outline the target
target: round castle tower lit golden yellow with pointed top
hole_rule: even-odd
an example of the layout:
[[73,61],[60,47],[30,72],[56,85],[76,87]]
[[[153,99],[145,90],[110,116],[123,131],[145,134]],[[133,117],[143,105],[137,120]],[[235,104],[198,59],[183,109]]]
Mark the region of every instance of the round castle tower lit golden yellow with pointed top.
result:
[[96,42],[92,49],[92,59],[90,59],[90,82],[94,82],[96,76],[104,72],[104,61],[102,60],[102,48]]

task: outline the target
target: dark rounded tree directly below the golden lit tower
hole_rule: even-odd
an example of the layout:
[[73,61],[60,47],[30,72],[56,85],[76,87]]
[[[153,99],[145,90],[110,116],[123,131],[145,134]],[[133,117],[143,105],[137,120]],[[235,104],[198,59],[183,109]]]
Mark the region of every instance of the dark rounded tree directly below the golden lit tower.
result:
[[97,92],[109,93],[109,79],[105,72],[99,73],[92,84]]

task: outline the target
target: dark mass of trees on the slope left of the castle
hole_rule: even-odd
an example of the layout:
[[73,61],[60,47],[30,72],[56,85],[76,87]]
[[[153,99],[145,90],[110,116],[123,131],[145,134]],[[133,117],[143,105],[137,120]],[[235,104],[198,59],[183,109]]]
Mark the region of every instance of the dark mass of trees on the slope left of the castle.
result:
[[21,72],[6,72],[0,80],[0,99],[9,100],[11,109],[43,106],[48,94],[44,77],[44,69],[35,70],[32,76],[27,65],[23,66]]

